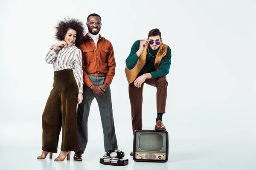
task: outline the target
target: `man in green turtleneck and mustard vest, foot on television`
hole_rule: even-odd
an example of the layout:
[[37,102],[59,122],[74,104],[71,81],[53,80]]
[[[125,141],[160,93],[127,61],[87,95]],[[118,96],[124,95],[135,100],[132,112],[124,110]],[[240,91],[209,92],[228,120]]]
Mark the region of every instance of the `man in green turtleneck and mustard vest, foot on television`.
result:
[[[166,112],[166,75],[171,66],[171,48],[163,44],[159,29],[152,29],[147,40],[137,40],[126,59],[125,74],[129,83],[133,132],[142,127],[144,83],[157,88],[156,130],[166,130],[162,116]],[[132,155],[132,152],[131,152]]]

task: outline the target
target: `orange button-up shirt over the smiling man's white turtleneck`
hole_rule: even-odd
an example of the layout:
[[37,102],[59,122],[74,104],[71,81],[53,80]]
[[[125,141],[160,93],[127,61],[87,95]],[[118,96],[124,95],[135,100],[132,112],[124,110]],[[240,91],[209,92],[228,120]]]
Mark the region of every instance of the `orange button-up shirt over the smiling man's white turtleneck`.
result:
[[88,34],[82,37],[76,46],[82,51],[84,85],[90,87],[93,82],[87,74],[107,74],[105,83],[111,84],[115,75],[116,61],[110,41],[99,35],[96,45]]

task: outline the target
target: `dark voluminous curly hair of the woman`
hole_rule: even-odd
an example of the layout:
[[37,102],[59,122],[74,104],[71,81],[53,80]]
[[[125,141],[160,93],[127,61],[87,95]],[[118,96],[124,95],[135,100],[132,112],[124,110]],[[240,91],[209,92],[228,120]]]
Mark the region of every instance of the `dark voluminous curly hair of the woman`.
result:
[[59,41],[64,40],[64,37],[70,28],[76,31],[76,41],[84,36],[84,24],[74,18],[64,18],[64,20],[60,21],[55,28],[55,38]]

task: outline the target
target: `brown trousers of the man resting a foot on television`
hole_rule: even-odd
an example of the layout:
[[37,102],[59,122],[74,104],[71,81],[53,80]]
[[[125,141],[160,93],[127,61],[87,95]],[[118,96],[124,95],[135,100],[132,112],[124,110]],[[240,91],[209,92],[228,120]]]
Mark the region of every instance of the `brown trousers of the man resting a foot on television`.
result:
[[[146,79],[144,83],[157,88],[157,113],[165,113],[168,85],[166,77]],[[137,128],[142,127],[142,102],[144,83],[141,85],[141,88],[135,87],[134,82],[129,84],[129,97],[131,102],[131,124],[133,132]]]

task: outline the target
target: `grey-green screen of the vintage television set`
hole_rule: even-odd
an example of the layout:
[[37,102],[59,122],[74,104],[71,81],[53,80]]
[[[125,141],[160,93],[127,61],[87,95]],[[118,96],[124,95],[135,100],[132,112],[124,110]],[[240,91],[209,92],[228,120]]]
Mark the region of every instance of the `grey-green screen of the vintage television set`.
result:
[[161,133],[140,133],[139,148],[143,151],[160,151],[163,149]]

